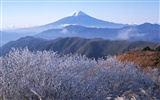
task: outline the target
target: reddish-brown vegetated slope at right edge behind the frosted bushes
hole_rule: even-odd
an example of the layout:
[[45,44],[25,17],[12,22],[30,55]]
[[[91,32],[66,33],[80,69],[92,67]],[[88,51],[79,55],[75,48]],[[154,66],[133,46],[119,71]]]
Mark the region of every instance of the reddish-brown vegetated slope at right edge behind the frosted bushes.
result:
[[143,69],[148,67],[160,69],[160,52],[150,50],[132,50],[117,56],[120,61],[134,62]]

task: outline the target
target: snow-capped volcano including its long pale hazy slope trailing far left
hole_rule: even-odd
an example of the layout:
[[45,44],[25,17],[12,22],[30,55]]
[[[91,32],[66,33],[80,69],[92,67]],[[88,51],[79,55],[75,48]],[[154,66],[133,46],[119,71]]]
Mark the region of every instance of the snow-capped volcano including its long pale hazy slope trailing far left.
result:
[[64,17],[58,21],[46,25],[36,26],[31,28],[21,28],[11,31],[18,33],[26,33],[26,32],[39,33],[48,29],[63,28],[68,25],[80,25],[85,27],[96,27],[96,28],[122,28],[126,26],[124,24],[113,23],[93,18],[82,11],[75,11],[67,17]]

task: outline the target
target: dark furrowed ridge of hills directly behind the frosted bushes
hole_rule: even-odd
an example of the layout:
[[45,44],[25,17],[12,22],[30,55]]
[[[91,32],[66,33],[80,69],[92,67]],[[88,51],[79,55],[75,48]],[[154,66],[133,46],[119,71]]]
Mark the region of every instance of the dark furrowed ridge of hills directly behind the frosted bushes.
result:
[[31,51],[36,50],[53,50],[59,54],[82,54],[87,57],[104,57],[108,55],[121,54],[131,49],[144,48],[149,46],[150,48],[155,48],[159,45],[158,43],[152,42],[128,42],[122,40],[104,40],[100,38],[95,39],[85,39],[85,38],[57,38],[55,40],[44,40],[34,37],[23,37],[16,41],[11,41],[1,49],[1,55],[7,54],[11,48],[25,48],[28,47]]

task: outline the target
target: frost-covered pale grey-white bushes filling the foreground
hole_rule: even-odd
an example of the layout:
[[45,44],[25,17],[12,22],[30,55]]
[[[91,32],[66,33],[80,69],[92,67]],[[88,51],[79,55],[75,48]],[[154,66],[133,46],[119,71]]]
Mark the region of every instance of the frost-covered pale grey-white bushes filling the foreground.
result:
[[13,49],[0,57],[0,95],[4,100],[160,99],[158,88],[153,89],[159,79],[136,66],[116,57],[94,60]]

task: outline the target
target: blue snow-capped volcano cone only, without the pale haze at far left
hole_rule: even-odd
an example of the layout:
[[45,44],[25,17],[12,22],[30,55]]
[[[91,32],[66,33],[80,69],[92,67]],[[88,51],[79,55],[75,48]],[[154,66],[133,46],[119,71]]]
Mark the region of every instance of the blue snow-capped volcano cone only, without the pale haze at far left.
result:
[[62,18],[56,22],[44,26],[66,26],[66,25],[81,25],[85,27],[99,27],[99,28],[121,28],[124,25],[99,20],[93,18],[82,11],[75,11],[71,15]]

